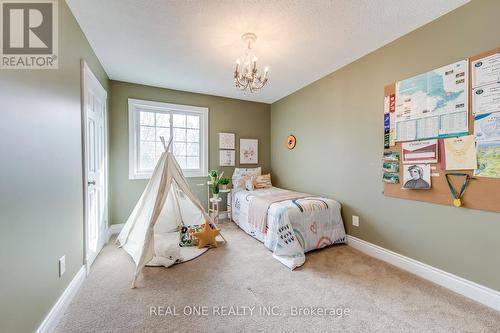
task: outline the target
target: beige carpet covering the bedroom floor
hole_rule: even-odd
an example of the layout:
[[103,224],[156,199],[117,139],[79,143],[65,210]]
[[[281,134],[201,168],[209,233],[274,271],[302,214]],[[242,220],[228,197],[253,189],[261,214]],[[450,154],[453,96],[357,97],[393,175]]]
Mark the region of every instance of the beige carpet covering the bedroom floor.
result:
[[[339,245],[309,253],[305,265],[292,272],[234,224],[224,222],[222,228],[228,239],[226,245],[172,268],[146,268],[138,289],[130,289],[134,268],[131,259],[114,245],[106,246],[57,331],[498,332],[500,329],[499,312],[351,247]],[[173,311],[174,306],[177,315],[167,314],[167,307]],[[183,314],[194,306],[208,314]],[[226,309],[228,315],[222,316],[222,306],[240,306],[241,316],[230,314],[230,308]],[[252,315],[243,306],[255,306]],[[261,315],[263,306],[274,310],[276,315]],[[329,307],[327,311],[343,311],[347,315],[292,316],[294,309],[310,306]],[[150,315],[151,307],[153,313],[156,310],[163,315]]]

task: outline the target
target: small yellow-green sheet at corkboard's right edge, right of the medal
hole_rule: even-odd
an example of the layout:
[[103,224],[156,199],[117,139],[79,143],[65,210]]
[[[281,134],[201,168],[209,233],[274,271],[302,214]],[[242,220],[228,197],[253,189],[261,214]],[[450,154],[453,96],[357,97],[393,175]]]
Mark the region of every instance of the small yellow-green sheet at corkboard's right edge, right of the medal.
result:
[[500,141],[477,143],[477,169],[474,176],[500,178]]

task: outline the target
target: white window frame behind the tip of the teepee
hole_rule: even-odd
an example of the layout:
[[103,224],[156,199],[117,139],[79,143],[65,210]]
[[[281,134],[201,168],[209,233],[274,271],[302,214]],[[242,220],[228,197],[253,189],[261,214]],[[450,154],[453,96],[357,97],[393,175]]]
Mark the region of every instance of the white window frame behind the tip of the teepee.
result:
[[[153,171],[139,170],[139,112],[151,110],[165,113],[183,113],[200,117],[200,162],[201,168],[182,170],[185,177],[205,177],[208,174],[208,108],[190,105],[153,102],[140,99],[128,99],[129,128],[129,179],[149,179]],[[170,124],[172,128],[173,124]],[[171,136],[172,137],[172,136]]]

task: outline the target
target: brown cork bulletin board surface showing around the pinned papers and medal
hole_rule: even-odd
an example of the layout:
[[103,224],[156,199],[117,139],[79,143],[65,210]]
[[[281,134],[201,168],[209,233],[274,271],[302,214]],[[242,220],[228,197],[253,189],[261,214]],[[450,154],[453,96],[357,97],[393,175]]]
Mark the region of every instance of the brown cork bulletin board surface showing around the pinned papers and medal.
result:
[[[469,76],[468,76],[468,117],[469,117],[469,134],[474,134],[474,116],[472,113],[472,80],[470,75],[471,63],[475,60],[484,58],[486,56],[500,52],[500,47],[474,55],[469,58]],[[384,88],[384,96],[395,94],[396,85],[390,84]],[[402,189],[403,182],[403,164],[402,164],[402,143],[396,142],[395,146],[385,149],[385,151],[399,151],[399,184],[389,184],[384,182],[384,195],[388,197],[426,201],[442,205],[453,206],[453,197],[448,188],[446,181],[446,173],[455,172],[441,169],[441,161],[431,164],[431,174],[433,175],[431,188],[429,190],[405,190]],[[472,208],[479,210],[486,210],[492,212],[500,212],[500,178],[485,178],[474,177],[473,170],[462,170],[461,173],[471,175],[472,179],[462,197],[462,207]],[[455,188],[460,189],[463,179],[459,177],[451,178],[452,184]],[[460,208],[457,208],[460,209]]]

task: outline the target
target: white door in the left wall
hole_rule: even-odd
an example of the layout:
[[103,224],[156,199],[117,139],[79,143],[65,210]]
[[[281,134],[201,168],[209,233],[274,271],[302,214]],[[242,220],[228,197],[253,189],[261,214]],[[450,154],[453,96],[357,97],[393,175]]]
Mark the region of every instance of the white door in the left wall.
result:
[[85,261],[87,272],[107,241],[106,90],[83,63]]

